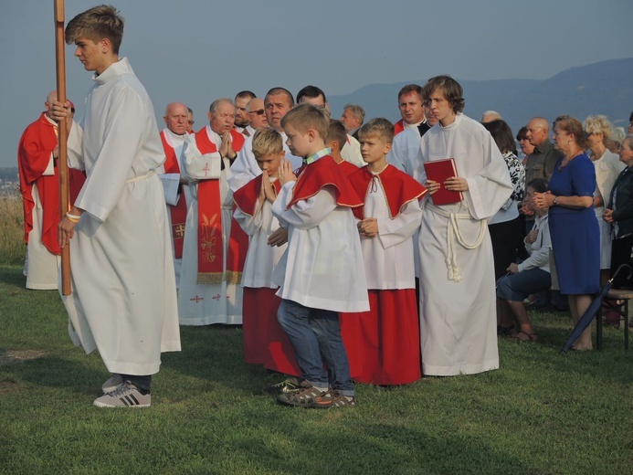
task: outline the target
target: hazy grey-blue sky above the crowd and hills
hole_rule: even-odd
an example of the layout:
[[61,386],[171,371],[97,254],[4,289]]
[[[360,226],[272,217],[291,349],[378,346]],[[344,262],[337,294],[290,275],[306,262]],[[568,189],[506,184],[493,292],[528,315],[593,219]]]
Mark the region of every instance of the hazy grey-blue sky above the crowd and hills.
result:
[[[547,79],[633,56],[631,0],[119,0],[121,56],[153,100],[206,123],[211,101],[314,84],[348,94],[369,84]],[[0,167],[16,166],[26,126],[56,89],[53,0],[2,0]],[[66,0],[67,22],[97,2]],[[66,47],[69,99],[83,111],[91,72]],[[468,98],[466,98],[468,100]],[[633,106],[633,105],[632,105]],[[342,111],[332,111],[338,117]],[[396,98],[393,117],[397,118]],[[159,127],[163,127],[162,121]]]

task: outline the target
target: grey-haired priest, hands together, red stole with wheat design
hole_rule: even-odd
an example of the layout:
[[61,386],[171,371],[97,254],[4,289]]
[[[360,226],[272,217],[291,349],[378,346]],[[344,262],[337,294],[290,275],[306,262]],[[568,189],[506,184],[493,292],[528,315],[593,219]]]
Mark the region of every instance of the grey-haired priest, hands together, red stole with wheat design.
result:
[[182,325],[242,322],[239,269],[233,259],[237,249],[229,247],[233,194],[227,175],[245,141],[234,128],[235,117],[232,100],[214,100],[208,125],[185,136],[182,173],[189,180],[192,203],[178,291]]

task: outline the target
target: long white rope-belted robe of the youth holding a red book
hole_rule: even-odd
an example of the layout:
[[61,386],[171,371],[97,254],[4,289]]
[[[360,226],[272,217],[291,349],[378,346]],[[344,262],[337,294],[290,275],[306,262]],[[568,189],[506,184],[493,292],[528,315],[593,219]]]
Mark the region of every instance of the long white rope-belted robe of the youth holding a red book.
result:
[[[458,204],[433,206],[430,196],[423,202],[418,239],[423,373],[496,369],[495,281],[487,218],[512,194],[508,167],[490,132],[461,113],[447,127],[432,127],[420,140],[420,151],[425,162],[454,158],[469,187]],[[424,182],[424,169],[421,173]],[[472,248],[462,246],[460,239]]]

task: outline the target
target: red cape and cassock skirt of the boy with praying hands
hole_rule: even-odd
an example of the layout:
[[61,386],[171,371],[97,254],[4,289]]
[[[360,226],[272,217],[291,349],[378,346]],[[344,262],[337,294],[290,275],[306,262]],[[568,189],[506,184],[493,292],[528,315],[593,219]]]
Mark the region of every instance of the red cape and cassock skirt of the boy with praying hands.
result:
[[[253,178],[233,194],[237,207],[245,214],[255,214],[263,174]],[[273,183],[279,193],[280,182]],[[237,226],[237,223],[236,223]],[[294,349],[277,321],[281,299],[277,289],[244,287],[242,298],[242,339],[244,361],[263,364],[266,369],[285,375],[301,375]]]

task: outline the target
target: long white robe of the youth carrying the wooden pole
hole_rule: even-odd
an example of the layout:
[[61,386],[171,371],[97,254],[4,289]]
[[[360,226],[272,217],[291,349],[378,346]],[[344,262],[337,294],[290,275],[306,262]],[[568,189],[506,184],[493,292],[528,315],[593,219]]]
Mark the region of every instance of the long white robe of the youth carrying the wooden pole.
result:
[[179,351],[174,257],[163,185],[164,151],[152,101],[126,58],[99,76],[69,163],[86,171],[70,240],[72,293],[62,297],[69,332],[98,349],[111,373],[152,375],[161,352]]

